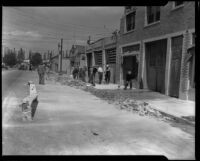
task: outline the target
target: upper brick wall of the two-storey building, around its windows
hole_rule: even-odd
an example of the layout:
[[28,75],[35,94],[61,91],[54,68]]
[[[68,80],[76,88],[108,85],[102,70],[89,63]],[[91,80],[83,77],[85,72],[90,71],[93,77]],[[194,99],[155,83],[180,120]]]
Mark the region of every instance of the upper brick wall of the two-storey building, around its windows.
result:
[[125,16],[121,19],[119,45],[195,28],[195,3],[185,1],[184,7],[172,10],[173,3],[161,7],[160,23],[144,27],[145,8],[137,7],[133,32],[124,34]]

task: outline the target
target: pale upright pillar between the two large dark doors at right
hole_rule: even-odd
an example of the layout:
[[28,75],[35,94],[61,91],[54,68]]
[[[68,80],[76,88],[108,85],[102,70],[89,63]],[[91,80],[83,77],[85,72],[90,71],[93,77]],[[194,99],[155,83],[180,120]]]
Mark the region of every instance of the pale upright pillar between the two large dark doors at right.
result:
[[165,94],[169,95],[170,85],[170,70],[171,70],[171,38],[167,38],[167,55],[166,55],[166,68],[165,68]]

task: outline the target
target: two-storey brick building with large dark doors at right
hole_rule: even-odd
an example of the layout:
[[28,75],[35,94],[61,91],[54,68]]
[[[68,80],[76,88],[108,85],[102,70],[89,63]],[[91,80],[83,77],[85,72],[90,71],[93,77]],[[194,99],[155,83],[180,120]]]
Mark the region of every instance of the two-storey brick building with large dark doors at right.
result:
[[128,69],[136,88],[188,99],[189,65],[184,60],[195,33],[195,2],[125,7],[120,20],[117,80]]

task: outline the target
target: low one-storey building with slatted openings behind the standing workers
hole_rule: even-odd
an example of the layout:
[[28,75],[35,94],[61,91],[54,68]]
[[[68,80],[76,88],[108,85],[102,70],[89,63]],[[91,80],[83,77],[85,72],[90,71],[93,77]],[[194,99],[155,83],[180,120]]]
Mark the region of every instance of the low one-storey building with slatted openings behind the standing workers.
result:
[[102,66],[105,71],[108,64],[111,69],[111,83],[116,83],[116,50],[117,36],[99,39],[86,47],[88,71],[90,67]]

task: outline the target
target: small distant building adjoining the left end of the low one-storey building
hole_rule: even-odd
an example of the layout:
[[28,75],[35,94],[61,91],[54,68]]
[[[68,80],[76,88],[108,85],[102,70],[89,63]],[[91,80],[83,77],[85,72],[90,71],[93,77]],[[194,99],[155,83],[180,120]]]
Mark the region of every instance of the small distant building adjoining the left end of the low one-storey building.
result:
[[72,45],[72,48],[70,50],[70,62],[71,67],[83,68],[84,66],[86,66],[85,46]]

